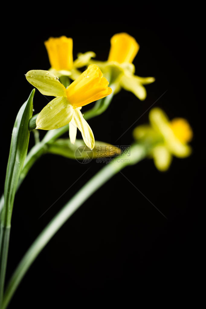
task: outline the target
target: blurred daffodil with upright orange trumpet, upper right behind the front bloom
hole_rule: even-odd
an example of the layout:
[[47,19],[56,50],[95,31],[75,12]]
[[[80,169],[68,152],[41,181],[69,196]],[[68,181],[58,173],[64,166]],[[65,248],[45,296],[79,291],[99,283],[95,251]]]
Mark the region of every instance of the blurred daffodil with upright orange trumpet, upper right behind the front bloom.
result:
[[110,74],[110,84],[114,85],[114,93],[124,88],[133,92],[140,100],[144,100],[147,94],[143,85],[153,83],[155,79],[134,75],[135,66],[132,61],[138,50],[139,44],[132,36],[127,33],[117,33],[111,38],[108,60],[105,62],[90,60],[89,63],[97,64],[106,77]]

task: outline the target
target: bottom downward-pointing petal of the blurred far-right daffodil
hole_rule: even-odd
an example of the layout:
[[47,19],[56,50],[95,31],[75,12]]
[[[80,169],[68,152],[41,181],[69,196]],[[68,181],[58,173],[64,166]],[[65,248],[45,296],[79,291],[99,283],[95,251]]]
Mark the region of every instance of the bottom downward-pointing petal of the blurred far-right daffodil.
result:
[[156,146],[153,148],[154,164],[159,171],[166,171],[172,160],[170,152],[165,146]]

